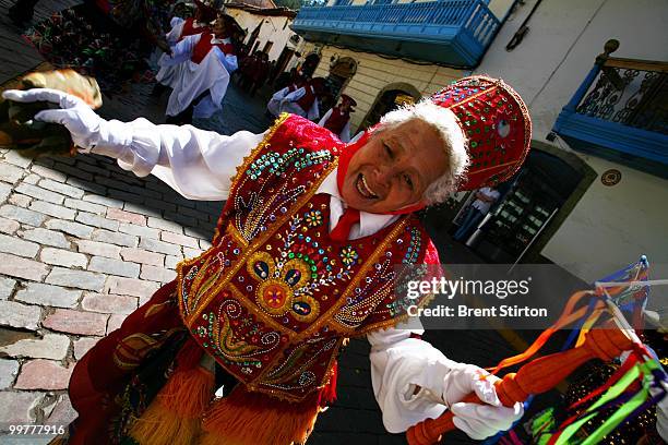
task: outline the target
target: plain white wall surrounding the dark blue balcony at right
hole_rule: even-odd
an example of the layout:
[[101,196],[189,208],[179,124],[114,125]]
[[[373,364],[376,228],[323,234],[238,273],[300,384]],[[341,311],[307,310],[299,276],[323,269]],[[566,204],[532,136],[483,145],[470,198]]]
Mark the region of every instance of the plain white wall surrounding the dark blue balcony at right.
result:
[[[666,0],[544,0],[522,44],[506,51],[535,2],[527,0],[509,17],[476,70],[502,77],[517,89],[529,106],[535,140],[545,141],[606,40],[620,40],[613,57],[668,60]],[[563,141],[557,145],[569,149]],[[597,178],[542,254],[587,280],[635,261],[641,253],[655,263],[668,263],[668,181],[578,156],[599,176],[619,169],[621,182],[605,187]]]

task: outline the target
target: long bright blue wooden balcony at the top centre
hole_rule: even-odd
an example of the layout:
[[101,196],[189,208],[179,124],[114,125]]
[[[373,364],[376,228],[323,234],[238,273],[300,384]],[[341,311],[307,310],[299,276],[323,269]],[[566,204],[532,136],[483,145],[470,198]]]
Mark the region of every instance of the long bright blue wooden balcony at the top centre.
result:
[[302,8],[293,29],[310,41],[475,67],[500,25],[481,0]]

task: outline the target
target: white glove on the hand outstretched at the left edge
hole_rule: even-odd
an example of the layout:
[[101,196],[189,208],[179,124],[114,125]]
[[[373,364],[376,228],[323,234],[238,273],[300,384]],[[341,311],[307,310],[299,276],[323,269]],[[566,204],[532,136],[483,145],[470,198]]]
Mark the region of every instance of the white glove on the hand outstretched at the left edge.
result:
[[[110,149],[109,156],[118,157],[119,151],[132,142],[130,134],[123,134],[122,122],[104,120],[86,103],[71,94],[50,88],[9,89],[2,93],[2,97],[17,103],[58,104],[61,109],[39,111],[35,119],[64,125],[72,135],[72,142],[87,152],[96,146],[106,147]],[[95,153],[107,154],[104,149],[96,149]]]

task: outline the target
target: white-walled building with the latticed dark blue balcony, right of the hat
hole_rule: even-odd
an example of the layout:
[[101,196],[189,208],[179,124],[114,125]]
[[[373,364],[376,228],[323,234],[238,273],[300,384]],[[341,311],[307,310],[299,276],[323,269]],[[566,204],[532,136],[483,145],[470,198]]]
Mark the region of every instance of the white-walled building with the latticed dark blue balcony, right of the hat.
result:
[[[527,17],[528,32],[506,50]],[[533,149],[549,158],[541,168],[561,182],[550,191],[565,194],[537,246],[587,281],[641,254],[655,264],[656,277],[668,272],[667,20],[661,0],[525,1],[475,70],[506,80],[526,100]],[[610,39],[619,41],[610,62],[619,58],[623,68],[597,70],[595,59]],[[610,87],[608,79],[617,77]],[[568,112],[571,101],[577,113]],[[621,117],[641,108],[646,122]]]

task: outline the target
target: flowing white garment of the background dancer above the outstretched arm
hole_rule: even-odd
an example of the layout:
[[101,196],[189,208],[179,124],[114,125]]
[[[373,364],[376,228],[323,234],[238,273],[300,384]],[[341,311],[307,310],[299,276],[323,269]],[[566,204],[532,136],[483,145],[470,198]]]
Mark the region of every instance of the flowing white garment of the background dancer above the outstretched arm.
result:
[[[223,107],[223,98],[229,85],[229,74],[238,68],[237,57],[226,55],[214,46],[200,63],[194,63],[190,58],[203,35],[186,37],[174,47],[172,57],[162,59],[163,67],[179,63],[182,65],[180,75],[172,83],[174,91],[167,103],[167,116],[182,112],[206,91],[208,94],[195,105],[193,117],[210,118]],[[211,43],[229,44],[230,40],[213,37]]]

